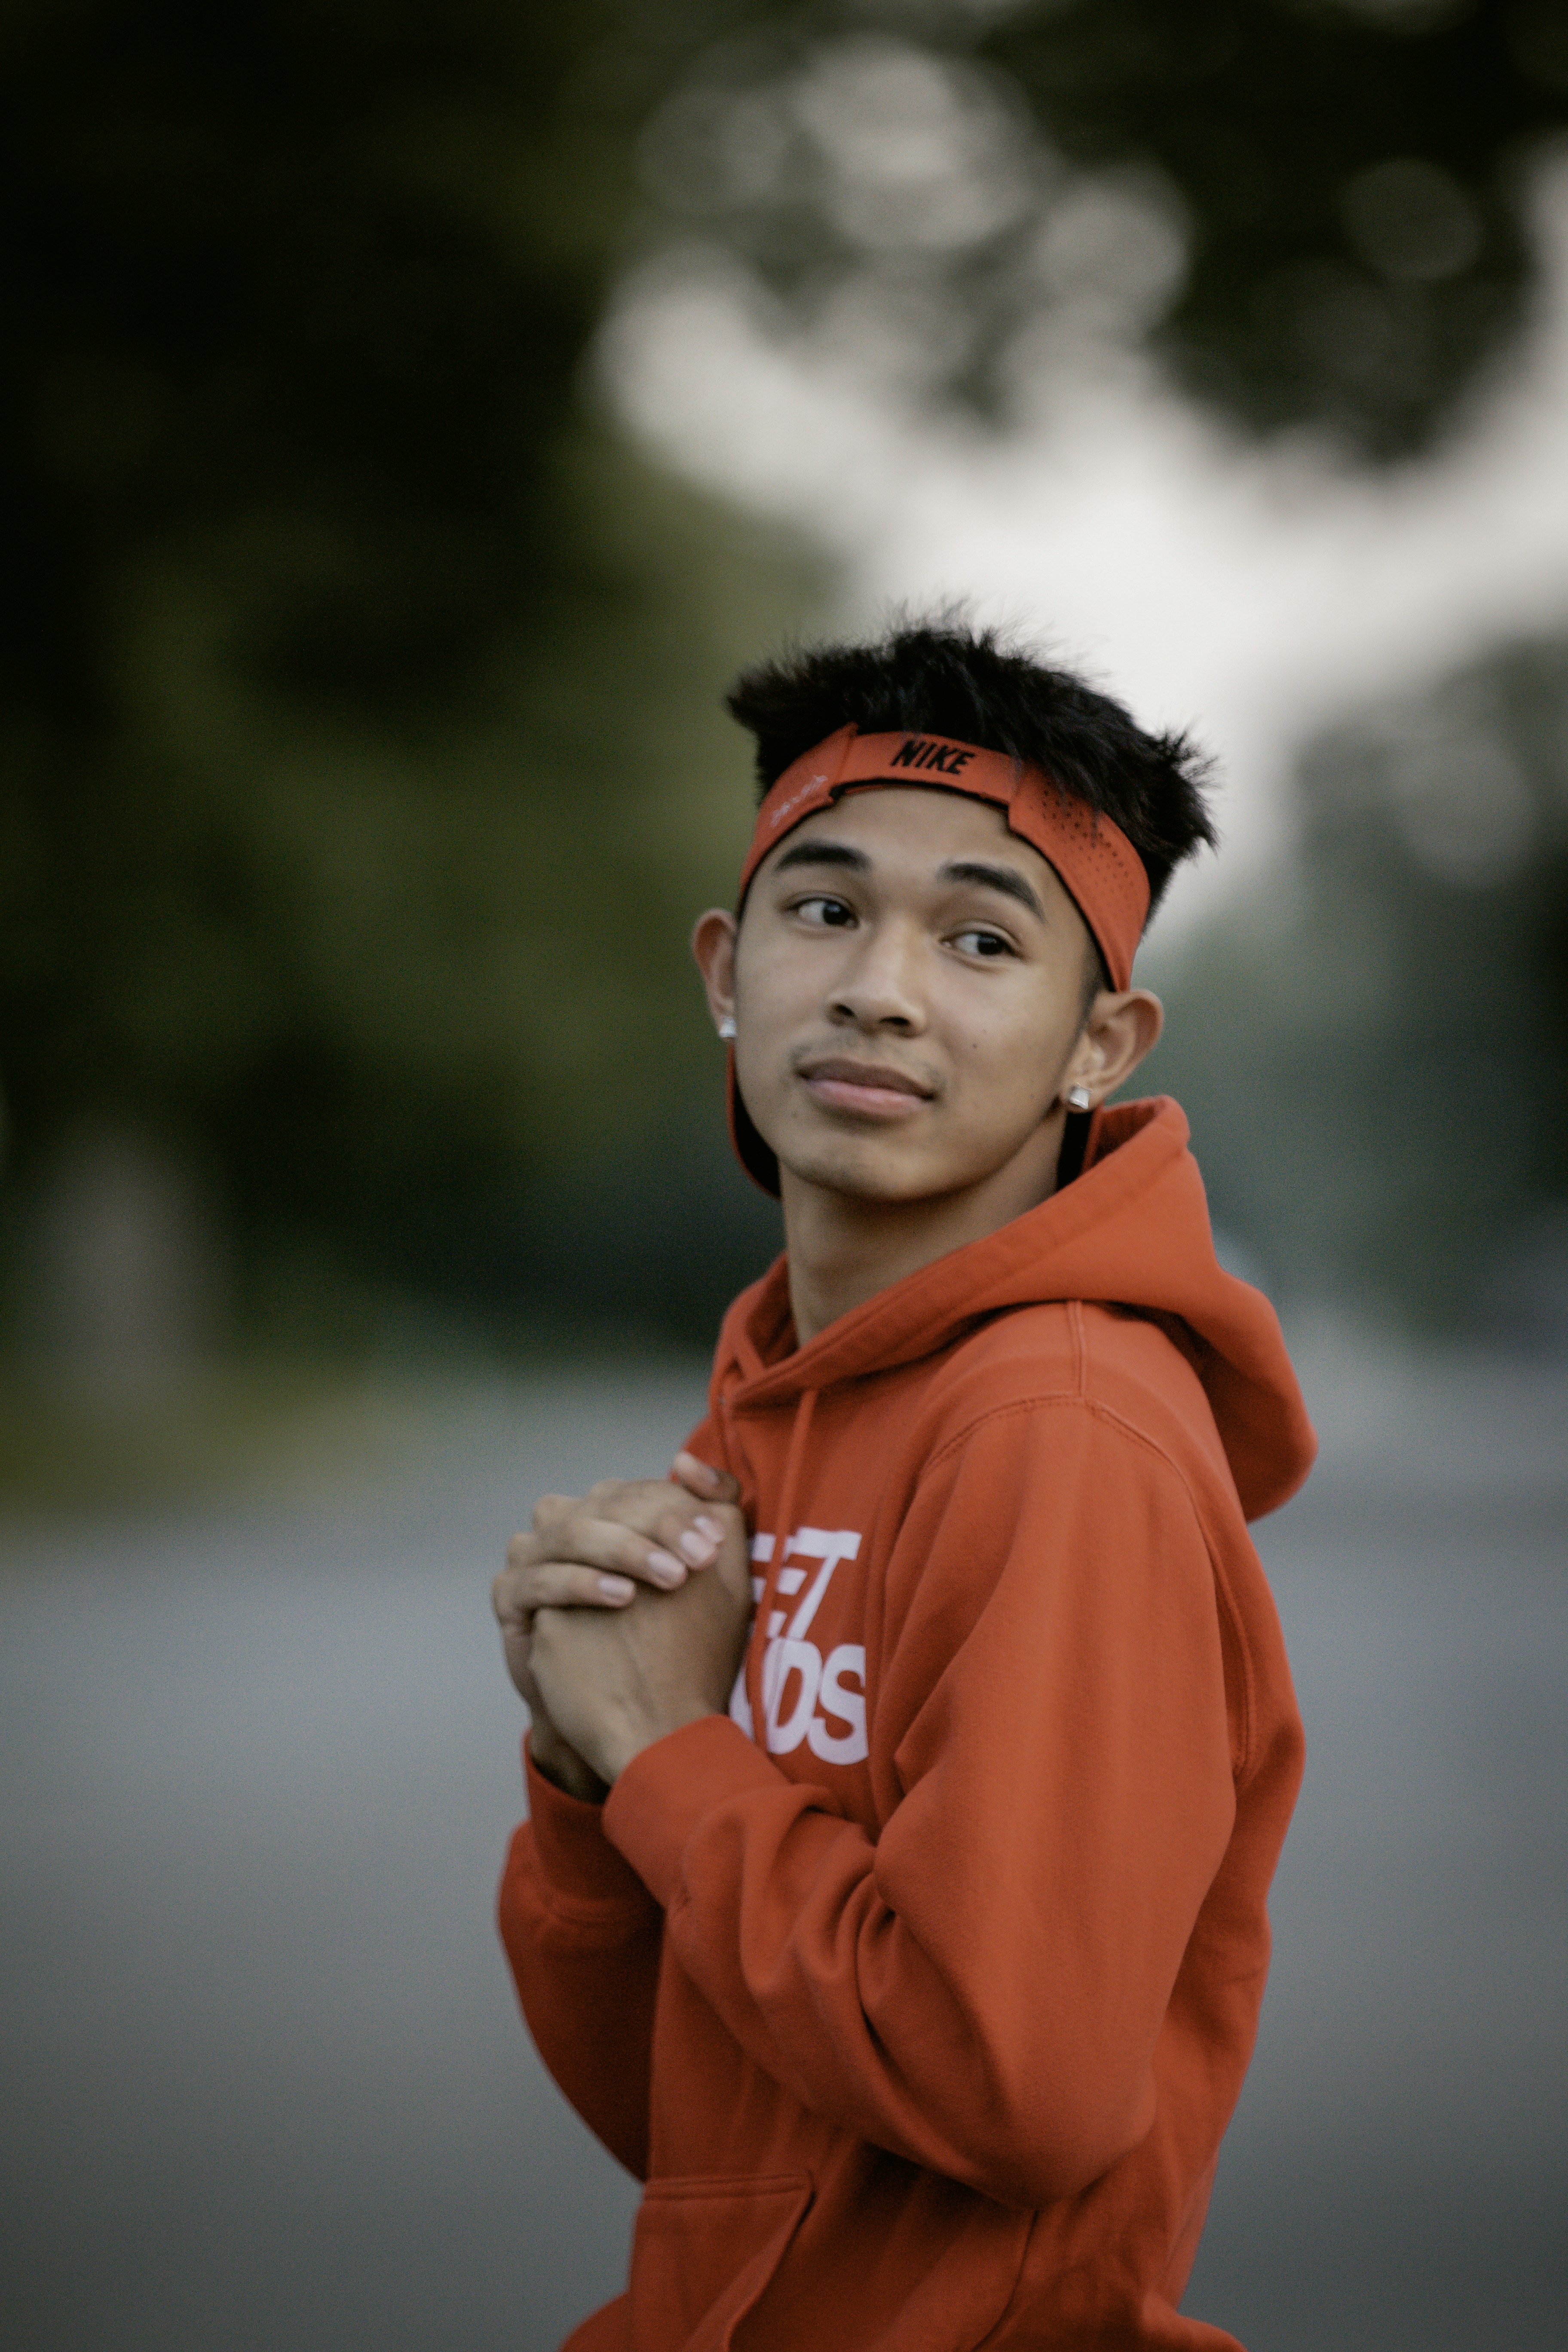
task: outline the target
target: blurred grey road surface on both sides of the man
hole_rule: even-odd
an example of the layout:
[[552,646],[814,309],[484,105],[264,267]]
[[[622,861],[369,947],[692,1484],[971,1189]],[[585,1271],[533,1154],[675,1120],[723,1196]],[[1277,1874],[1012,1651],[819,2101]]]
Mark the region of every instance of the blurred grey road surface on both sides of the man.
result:
[[[491,1931],[487,1581],[698,1388],[468,1399],[369,1508],[2,1541],[7,2352],[548,2352],[618,2286],[630,2183]],[[1309,1773],[1187,2307],[1253,2352],[1556,2343],[1568,1385],[1309,1392],[1324,1468],[1262,1529]]]

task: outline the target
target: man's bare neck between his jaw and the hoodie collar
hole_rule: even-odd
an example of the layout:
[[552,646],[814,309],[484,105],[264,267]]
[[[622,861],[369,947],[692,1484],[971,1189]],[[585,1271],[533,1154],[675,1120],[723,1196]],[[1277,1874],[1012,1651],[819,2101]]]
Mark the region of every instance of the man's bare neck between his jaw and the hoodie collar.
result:
[[875,1298],[877,1291],[1037,1209],[1056,1190],[1060,1143],[1063,1117],[1056,1112],[1030,1138],[1030,1150],[994,1176],[961,1192],[910,1202],[835,1192],[783,1169],[797,1343],[804,1348],[830,1322]]

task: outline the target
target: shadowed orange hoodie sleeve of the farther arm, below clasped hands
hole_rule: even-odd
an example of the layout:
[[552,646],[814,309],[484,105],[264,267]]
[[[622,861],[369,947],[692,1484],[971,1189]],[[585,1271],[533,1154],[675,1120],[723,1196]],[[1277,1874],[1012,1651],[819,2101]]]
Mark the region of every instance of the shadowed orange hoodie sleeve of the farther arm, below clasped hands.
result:
[[498,1900],[517,1999],[555,2082],[642,2180],[663,1912],[604,1837],[599,1806],[545,1780],[527,1743],[522,1755],[529,1818]]

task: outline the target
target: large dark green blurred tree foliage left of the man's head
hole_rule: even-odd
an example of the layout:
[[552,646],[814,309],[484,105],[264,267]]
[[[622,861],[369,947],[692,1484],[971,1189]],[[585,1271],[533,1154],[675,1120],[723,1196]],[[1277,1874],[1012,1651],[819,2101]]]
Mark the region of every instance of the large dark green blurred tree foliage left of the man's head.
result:
[[715,1108],[717,691],[816,581],[583,395],[616,42],[494,0],[7,19],[9,1174],[162,1138],[252,1329],[355,1261],[496,1291],[531,1188]]

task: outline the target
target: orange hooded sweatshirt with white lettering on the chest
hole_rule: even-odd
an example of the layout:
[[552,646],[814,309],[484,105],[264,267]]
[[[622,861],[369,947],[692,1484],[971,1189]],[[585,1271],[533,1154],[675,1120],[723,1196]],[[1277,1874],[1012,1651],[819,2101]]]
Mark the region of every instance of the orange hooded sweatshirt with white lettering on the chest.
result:
[[571,2352],[1232,2345],[1175,2305],[1302,1764],[1244,1517],[1314,1442],[1175,1103],[804,1348],[773,1265],[691,1449],[755,1529],[733,1719],[602,1811],[529,1766],[501,1886],[646,2180]]

